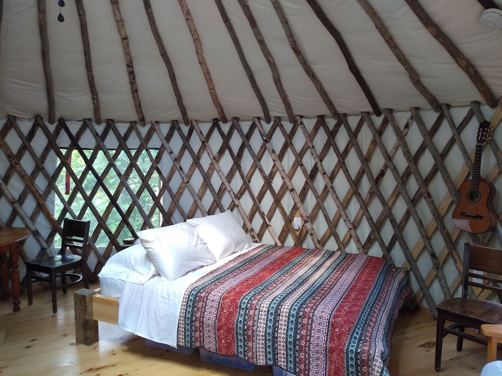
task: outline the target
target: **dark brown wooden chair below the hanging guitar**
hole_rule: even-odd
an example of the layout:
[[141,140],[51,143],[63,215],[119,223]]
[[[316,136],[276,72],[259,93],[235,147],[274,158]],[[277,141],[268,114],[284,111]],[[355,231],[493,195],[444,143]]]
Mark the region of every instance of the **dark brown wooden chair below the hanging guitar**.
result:
[[[434,368],[441,370],[443,337],[454,334],[457,351],[462,351],[463,339],[486,344],[484,337],[466,333],[465,328],[481,329],[483,324],[502,324],[502,304],[469,298],[469,289],[489,289],[502,293],[502,250],[464,244],[462,297],[446,299],[437,305],[436,359]],[[445,321],[452,324],[445,327]]]

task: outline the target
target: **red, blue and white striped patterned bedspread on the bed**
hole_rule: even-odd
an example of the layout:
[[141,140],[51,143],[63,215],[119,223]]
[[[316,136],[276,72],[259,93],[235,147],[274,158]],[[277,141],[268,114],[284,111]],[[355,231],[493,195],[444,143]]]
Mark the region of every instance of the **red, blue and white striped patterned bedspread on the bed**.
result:
[[178,343],[300,376],[385,375],[410,292],[377,257],[262,245],[186,290]]

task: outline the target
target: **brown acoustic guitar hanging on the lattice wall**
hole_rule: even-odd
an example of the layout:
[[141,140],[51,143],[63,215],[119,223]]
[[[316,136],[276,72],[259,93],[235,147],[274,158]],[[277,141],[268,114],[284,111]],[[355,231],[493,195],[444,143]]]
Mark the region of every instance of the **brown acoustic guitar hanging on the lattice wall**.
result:
[[477,132],[472,178],[460,184],[460,201],[451,215],[453,225],[469,233],[484,233],[496,225],[497,214],[493,208],[495,187],[479,173],[483,143],[490,135],[490,123],[485,120],[479,124]]

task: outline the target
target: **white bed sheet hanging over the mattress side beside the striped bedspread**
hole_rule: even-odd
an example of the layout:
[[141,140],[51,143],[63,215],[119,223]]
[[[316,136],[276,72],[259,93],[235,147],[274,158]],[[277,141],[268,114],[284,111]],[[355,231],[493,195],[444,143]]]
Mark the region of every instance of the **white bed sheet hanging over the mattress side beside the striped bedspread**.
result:
[[118,296],[120,328],[152,341],[177,347],[178,317],[187,287],[211,270],[258,245],[253,243],[250,248],[234,252],[174,281],[155,275],[144,284],[138,284],[120,280],[116,275],[112,278],[100,274],[101,293]]

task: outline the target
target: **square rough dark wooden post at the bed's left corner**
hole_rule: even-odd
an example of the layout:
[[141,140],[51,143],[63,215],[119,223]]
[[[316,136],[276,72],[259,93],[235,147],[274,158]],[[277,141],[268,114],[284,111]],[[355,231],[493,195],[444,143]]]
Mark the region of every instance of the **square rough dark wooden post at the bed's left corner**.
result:
[[75,339],[78,344],[90,346],[99,341],[98,322],[92,315],[94,290],[80,289],[73,294],[75,304]]

